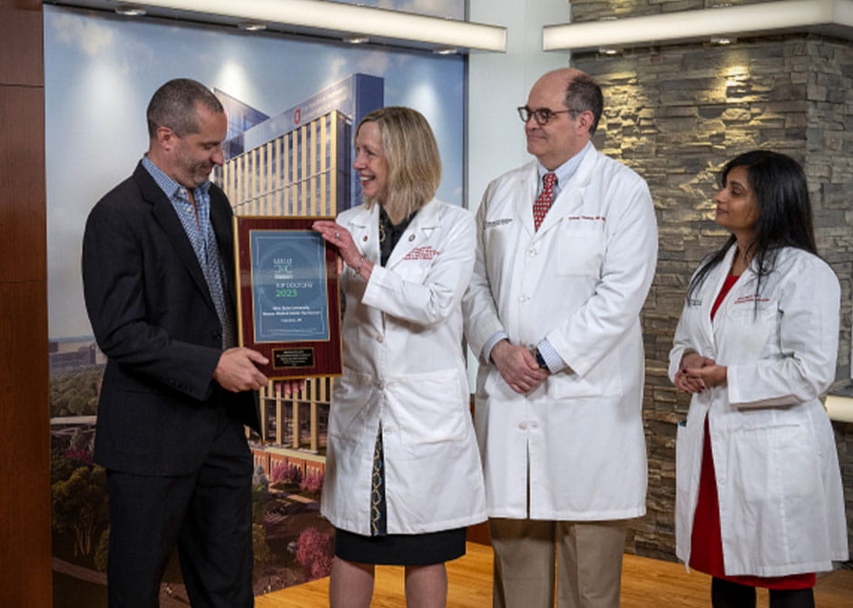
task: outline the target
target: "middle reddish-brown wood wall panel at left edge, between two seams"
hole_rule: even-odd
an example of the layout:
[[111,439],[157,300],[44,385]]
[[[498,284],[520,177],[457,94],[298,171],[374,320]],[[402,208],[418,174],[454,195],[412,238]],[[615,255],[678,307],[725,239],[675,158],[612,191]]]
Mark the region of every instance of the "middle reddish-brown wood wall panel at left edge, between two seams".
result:
[[0,117],[0,281],[43,280],[44,88],[0,86]]

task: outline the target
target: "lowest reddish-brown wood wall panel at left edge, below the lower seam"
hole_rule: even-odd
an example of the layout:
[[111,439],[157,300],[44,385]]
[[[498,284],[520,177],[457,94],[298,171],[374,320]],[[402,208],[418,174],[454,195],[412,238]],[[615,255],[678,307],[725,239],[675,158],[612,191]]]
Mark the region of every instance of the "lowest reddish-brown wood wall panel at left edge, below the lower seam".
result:
[[0,606],[51,605],[44,281],[0,281]]

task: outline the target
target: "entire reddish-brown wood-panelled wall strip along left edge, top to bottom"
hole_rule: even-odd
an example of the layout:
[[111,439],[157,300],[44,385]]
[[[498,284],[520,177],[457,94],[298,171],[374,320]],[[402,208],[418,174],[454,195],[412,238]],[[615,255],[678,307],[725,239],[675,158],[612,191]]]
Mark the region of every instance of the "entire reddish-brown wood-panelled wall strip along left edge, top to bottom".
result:
[[50,608],[42,3],[0,0],[0,606]]

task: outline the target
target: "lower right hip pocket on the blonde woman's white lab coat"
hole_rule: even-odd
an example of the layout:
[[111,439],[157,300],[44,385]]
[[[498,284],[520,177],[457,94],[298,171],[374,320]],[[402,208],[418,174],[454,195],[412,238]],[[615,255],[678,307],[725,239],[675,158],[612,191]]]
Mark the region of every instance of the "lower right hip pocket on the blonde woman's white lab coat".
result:
[[466,436],[467,388],[456,369],[417,374],[389,387],[397,393],[400,440],[410,456],[428,456],[441,444]]

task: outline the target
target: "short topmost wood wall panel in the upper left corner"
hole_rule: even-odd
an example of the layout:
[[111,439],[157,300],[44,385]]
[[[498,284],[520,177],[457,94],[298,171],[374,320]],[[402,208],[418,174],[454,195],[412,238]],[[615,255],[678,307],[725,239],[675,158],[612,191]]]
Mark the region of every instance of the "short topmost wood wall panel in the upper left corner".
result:
[[44,86],[42,3],[0,0],[0,84]]

